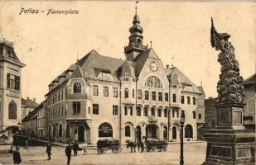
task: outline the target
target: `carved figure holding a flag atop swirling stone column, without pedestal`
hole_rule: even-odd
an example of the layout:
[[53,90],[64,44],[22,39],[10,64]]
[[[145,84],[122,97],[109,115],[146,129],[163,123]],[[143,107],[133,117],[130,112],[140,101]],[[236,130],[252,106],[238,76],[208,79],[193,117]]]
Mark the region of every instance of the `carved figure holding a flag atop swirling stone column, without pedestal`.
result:
[[218,33],[211,18],[210,42],[215,50],[220,50],[218,62],[221,65],[220,80],[217,84],[217,103],[244,101],[244,79],[239,74],[239,63],[234,58],[234,47],[229,42],[230,35]]

